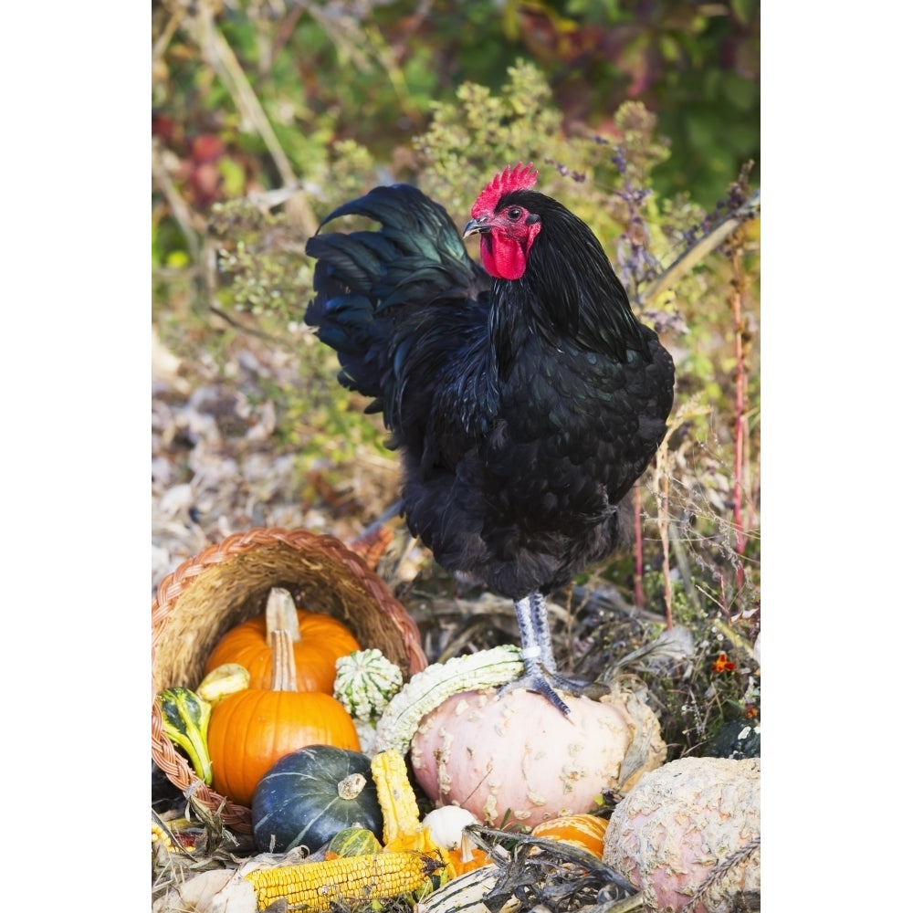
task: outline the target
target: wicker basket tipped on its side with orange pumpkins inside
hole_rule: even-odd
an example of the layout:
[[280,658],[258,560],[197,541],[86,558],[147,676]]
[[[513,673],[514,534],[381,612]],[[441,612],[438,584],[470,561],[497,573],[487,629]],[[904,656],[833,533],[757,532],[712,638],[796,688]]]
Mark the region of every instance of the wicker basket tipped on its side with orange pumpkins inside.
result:
[[402,604],[331,536],[280,529],[236,533],[165,577],[152,601],[152,761],[240,833],[250,833],[250,810],[211,790],[174,750],[155,696],[165,687],[196,687],[218,639],[262,613],[274,586],[289,590],[299,608],[348,625],[362,648],[379,649],[405,679],[427,665],[418,628]]

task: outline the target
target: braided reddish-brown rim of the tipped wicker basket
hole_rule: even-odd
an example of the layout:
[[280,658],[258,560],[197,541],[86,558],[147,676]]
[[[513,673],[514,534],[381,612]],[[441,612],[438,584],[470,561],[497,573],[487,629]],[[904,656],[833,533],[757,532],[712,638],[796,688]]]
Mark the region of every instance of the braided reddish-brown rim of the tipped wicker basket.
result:
[[250,810],[206,786],[163,732],[162,712],[156,700],[156,655],[176,604],[201,575],[237,556],[277,543],[295,551],[326,555],[329,562],[341,565],[351,574],[352,581],[365,591],[365,598],[372,598],[382,613],[389,615],[393,620],[403,640],[410,673],[415,673],[427,665],[418,628],[406,614],[402,603],[394,598],[387,585],[362,561],[359,554],[333,536],[282,527],[258,527],[236,532],[207,546],[167,574],[160,582],[152,600],[152,760],[175,786],[185,794],[193,793],[199,802],[212,812],[219,813],[226,826],[234,828],[239,833],[250,833]]

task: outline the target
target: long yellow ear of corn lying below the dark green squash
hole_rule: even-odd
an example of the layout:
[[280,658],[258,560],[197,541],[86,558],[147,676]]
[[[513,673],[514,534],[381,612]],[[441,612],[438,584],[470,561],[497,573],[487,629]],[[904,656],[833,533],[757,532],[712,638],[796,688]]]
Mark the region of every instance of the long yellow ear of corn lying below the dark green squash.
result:
[[245,877],[257,895],[258,910],[282,898],[289,911],[330,910],[334,903],[409,894],[442,867],[440,859],[421,853],[374,853],[262,868]]

